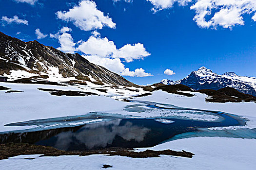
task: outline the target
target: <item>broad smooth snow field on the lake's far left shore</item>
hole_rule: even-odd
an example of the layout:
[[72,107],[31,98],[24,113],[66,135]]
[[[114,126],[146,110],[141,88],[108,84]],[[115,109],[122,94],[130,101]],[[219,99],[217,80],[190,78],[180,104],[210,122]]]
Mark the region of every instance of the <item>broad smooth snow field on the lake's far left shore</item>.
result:
[[[57,85],[31,85],[0,83],[0,85],[20,90],[20,93],[5,93],[0,90],[0,132],[27,129],[26,126],[12,127],[5,124],[48,119],[64,116],[84,115],[89,112],[115,112],[132,104],[120,102],[105,96],[53,96],[37,88],[78,91],[77,87]],[[83,91],[80,89],[79,91]],[[86,91],[86,90],[85,90]]]

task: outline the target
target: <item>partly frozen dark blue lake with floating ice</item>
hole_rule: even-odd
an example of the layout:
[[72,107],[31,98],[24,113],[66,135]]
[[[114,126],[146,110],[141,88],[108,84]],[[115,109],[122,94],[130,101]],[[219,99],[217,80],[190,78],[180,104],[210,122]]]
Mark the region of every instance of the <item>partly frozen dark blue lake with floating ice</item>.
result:
[[[129,118],[114,114],[90,113],[74,117],[11,123],[6,126],[36,126],[36,128],[0,133],[0,142],[25,142],[52,146],[61,150],[92,150],[107,147],[152,147],[168,140],[193,136],[256,138],[255,129],[251,131],[243,129],[245,130],[243,133],[239,130],[230,130],[230,132],[208,130],[212,127],[246,124],[244,119],[222,112],[179,108],[152,102],[144,102],[142,106],[135,104],[125,109],[142,114],[161,111],[161,114],[154,118]],[[169,114],[165,114],[167,112]],[[196,116],[190,118],[193,114]],[[201,120],[202,116],[215,119]]]

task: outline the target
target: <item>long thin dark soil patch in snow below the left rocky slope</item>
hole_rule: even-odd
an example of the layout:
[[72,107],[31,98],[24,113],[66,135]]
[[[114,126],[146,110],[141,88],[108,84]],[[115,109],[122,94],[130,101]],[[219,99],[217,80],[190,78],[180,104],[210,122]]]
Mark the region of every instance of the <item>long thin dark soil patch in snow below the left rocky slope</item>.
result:
[[46,89],[46,88],[38,88],[41,91],[48,91],[51,95],[55,96],[91,96],[97,95],[96,93],[86,92],[86,91],[71,91],[71,90],[55,90],[55,89]]

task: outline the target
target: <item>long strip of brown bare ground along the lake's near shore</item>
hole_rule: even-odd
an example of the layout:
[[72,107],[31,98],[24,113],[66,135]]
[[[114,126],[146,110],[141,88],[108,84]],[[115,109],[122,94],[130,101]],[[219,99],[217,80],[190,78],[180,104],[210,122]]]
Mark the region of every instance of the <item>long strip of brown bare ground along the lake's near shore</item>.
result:
[[26,155],[26,154],[43,154],[42,156],[60,156],[60,155],[80,155],[86,156],[91,154],[109,154],[127,156],[133,158],[146,158],[146,157],[160,157],[159,155],[172,155],[172,156],[182,156],[192,158],[194,153],[186,152],[182,150],[172,151],[172,150],[163,150],[163,151],[152,151],[146,150],[143,152],[134,152],[130,148],[107,148],[93,151],[62,151],[53,147],[48,146],[39,146],[31,145],[27,143],[6,143],[0,145],[0,159],[8,159],[9,157]]

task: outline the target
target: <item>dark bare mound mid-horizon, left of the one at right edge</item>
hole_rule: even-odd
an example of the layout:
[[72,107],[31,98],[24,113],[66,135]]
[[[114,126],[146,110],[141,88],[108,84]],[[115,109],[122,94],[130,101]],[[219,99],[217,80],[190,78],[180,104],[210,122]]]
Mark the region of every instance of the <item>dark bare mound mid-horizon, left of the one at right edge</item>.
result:
[[174,93],[174,94],[179,94],[179,95],[183,95],[183,96],[187,96],[187,97],[193,97],[193,94],[189,94],[189,93],[184,93],[184,92],[180,92],[180,91],[193,91],[192,88],[190,88],[189,86],[186,85],[159,85],[158,87],[154,88],[155,90],[163,90],[166,91],[168,93]]

